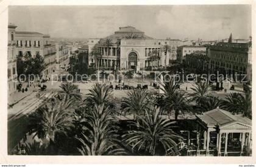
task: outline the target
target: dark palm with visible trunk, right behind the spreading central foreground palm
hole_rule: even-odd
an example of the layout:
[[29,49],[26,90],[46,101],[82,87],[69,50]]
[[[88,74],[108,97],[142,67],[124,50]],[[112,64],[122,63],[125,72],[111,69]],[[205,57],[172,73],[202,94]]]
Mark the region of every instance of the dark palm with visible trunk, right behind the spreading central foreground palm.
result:
[[190,109],[187,95],[181,90],[175,90],[173,94],[166,96],[162,103],[162,110],[168,112],[168,117],[174,111],[175,120],[177,120],[180,112],[190,111]]

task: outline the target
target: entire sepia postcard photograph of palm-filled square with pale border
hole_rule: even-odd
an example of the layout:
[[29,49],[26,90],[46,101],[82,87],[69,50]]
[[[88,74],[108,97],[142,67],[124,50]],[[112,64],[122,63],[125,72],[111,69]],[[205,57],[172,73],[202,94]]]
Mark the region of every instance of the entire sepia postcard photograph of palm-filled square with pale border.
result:
[[255,157],[252,9],[9,5],[4,153]]

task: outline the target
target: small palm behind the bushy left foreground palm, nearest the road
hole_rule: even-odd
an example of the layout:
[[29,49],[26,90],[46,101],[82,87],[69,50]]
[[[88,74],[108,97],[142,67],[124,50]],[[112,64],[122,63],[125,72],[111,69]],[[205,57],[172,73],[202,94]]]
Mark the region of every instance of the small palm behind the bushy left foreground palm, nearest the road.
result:
[[71,82],[67,82],[67,83],[62,83],[60,85],[60,89],[58,91],[58,95],[60,95],[60,97],[68,97],[68,98],[75,98],[76,100],[82,100],[82,94],[80,94],[79,90],[78,90],[78,86],[71,83]]

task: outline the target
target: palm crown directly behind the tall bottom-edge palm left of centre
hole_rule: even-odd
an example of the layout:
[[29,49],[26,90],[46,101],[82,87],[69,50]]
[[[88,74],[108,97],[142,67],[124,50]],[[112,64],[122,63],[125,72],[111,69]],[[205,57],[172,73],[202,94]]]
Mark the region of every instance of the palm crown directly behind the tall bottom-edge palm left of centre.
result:
[[110,108],[115,107],[115,102],[112,98],[113,90],[110,89],[107,84],[94,84],[93,88],[90,89],[90,93],[85,98],[85,103],[88,107],[94,107],[94,105],[102,105],[108,106]]

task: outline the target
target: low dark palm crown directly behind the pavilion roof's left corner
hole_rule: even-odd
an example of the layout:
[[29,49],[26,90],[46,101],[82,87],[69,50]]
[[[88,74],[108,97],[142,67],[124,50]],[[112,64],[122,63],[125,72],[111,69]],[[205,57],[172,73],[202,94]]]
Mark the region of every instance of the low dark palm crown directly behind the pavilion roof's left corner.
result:
[[221,107],[221,100],[219,100],[218,97],[212,97],[209,96],[206,98],[205,101],[202,101],[200,106],[198,107],[198,111],[200,112],[207,112],[207,111],[211,111],[213,109],[216,109],[217,107]]

